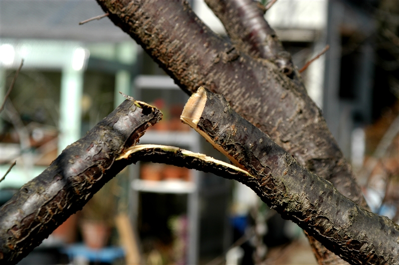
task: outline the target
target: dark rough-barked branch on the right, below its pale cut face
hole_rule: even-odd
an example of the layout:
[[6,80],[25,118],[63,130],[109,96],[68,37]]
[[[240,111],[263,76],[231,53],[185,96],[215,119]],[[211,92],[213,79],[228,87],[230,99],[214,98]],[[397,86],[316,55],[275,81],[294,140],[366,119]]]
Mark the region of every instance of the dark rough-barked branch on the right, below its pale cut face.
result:
[[223,96],[203,88],[199,93],[206,96],[206,103],[196,130],[255,176],[240,181],[263,202],[350,264],[399,264],[397,224],[361,208],[302,167],[233,111]]

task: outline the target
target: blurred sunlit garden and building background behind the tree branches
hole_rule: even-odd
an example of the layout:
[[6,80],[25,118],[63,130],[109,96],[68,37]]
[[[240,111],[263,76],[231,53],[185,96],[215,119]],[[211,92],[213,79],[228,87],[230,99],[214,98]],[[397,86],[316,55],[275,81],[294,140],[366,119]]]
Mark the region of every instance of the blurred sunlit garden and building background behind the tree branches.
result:
[[[200,18],[225,36],[201,1]],[[164,119],[141,143],[225,160],[180,122],[188,99],[95,0],[0,0],[4,204],[124,98]],[[351,161],[371,209],[399,223],[399,1],[277,1],[266,19],[301,68],[310,97]],[[317,264],[303,232],[246,186],[163,164],[124,169],[19,264]]]

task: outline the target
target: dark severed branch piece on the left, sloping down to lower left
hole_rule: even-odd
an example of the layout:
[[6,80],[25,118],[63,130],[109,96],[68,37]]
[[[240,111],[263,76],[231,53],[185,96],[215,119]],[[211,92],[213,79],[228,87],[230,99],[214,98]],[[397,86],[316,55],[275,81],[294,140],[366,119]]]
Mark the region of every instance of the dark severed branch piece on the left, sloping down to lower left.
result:
[[128,162],[116,160],[135,145],[161,112],[127,99],[85,137],[68,146],[39,176],[0,208],[0,263],[16,264]]

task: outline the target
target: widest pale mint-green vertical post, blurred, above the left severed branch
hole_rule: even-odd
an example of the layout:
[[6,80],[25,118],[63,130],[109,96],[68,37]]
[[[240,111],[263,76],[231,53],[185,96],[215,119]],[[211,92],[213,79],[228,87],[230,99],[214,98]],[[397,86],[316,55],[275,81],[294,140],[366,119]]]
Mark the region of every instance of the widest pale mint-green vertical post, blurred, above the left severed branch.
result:
[[83,71],[64,69],[61,73],[58,153],[80,138]]

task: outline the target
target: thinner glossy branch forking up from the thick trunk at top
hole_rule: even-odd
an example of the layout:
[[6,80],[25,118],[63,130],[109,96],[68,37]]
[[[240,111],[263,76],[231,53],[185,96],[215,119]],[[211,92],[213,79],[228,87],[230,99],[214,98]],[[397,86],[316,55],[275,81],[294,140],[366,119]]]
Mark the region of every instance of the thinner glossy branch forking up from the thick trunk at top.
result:
[[257,1],[205,0],[223,23],[228,36],[240,51],[273,61],[286,75],[294,78],[291,54],[287,52],[276,32],[263,18]]

